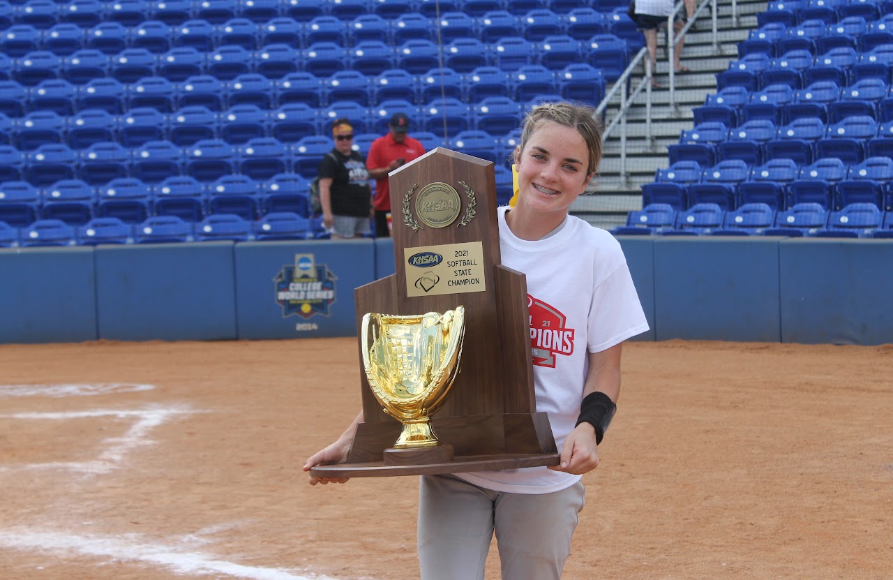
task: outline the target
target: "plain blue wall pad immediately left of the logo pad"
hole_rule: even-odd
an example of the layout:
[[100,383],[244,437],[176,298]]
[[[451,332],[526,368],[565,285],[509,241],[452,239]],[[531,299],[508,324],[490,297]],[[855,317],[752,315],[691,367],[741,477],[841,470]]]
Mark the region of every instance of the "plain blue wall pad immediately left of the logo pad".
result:
[[99,338],[236,339],[234,245],[97,246]]

